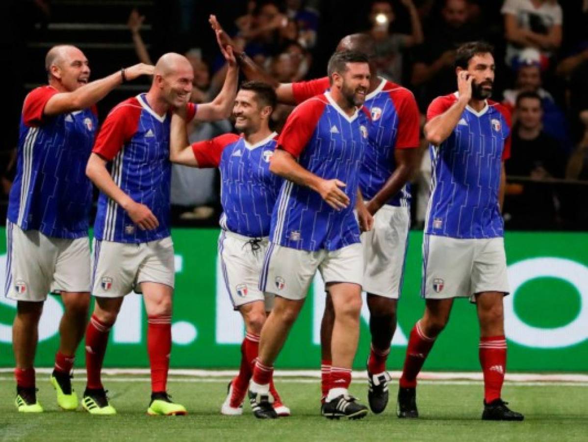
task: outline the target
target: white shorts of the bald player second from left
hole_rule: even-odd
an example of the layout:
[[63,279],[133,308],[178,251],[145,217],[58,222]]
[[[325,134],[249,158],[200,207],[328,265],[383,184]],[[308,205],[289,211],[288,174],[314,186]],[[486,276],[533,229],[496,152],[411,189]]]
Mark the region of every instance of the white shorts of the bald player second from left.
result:
[[135,291],[141,283],[159,283],[173,288],[175,262],[172,237],[126,244],[94,240],[92,294],[119,298]]

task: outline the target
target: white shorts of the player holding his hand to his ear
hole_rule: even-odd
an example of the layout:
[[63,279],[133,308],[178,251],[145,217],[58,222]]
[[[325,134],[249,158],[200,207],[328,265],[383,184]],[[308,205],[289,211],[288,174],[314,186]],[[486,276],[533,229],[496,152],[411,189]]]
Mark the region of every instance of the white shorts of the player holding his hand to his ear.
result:
[[423,287],[425,299],[470,298],[485,291],[509,294],[503,238],[466,239],[425,235]]

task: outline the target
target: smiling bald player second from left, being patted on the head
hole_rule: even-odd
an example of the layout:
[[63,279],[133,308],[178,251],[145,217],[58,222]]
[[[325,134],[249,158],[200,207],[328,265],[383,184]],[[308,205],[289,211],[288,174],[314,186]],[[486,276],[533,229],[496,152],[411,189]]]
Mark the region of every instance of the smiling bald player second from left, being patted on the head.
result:
[[[236,95],[238,67],[232,52],[218,97],[188,119],[227,118]],[[88,384],[82,406],[91,414],[115,414],[101,381],[109,330],[124,296],[143,294],[148,315],[147,350],[151,365],[152,415],[184,415],[186,408],[166,393],[172,347],[172,295],[175,276],[169,229],[171,108],[188,103],[193,71],[179,54],[163,55],[151,89],[112,109],[96,139],[86,173],[100,189],[94,225],[93,290],[96,303],[86,330]]]

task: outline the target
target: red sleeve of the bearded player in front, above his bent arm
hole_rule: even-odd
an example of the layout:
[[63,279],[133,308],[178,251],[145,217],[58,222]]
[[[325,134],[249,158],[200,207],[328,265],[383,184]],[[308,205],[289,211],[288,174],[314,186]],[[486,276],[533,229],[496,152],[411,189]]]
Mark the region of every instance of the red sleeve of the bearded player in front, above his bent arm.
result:
[[298,158],[312,137],[325,106],[325,101],[319,97],[298,105],[286,120],[278,147]]

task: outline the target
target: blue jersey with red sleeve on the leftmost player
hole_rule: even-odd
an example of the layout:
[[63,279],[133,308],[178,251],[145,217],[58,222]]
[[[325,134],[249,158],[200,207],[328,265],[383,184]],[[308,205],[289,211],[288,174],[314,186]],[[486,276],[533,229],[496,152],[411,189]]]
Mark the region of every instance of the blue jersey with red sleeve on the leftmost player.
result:
[[44,115],[45,105],[57,93],[44,86],[25,98],[8,220],[49,237],[80,238],[88,236],[92,183],[86,164],[98,117],[93,107]]

